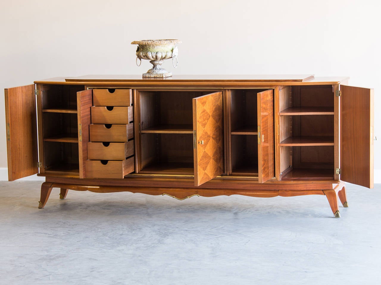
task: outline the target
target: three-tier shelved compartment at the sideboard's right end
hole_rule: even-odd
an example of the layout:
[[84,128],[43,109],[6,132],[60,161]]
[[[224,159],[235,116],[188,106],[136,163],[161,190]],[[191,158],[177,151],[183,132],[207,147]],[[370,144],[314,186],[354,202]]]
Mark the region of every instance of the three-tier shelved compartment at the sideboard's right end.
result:
[[280,91],[281,179],[333,179],[334,98],[331,85]]

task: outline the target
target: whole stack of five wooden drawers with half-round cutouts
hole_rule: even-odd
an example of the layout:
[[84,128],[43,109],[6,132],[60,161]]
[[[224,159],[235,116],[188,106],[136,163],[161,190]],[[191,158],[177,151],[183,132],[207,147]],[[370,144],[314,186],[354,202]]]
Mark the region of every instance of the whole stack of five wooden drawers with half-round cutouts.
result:
[[132,89],[94,89],[86,178],[123,178],[134,168]]

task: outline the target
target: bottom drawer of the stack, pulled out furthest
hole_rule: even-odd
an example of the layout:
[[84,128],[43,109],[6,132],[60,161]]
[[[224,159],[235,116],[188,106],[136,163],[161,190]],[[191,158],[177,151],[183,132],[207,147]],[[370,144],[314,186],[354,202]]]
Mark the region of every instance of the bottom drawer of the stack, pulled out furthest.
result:
[[123,178],[135,170],[134,157],[126,160],[86,160],[86,178]]

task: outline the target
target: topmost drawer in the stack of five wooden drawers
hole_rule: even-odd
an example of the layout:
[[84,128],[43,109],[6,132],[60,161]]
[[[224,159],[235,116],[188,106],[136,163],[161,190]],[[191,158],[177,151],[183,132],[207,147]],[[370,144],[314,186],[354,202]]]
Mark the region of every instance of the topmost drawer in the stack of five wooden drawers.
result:
[[132,89],[93,89],[94,106],[131,106],[132,98]]

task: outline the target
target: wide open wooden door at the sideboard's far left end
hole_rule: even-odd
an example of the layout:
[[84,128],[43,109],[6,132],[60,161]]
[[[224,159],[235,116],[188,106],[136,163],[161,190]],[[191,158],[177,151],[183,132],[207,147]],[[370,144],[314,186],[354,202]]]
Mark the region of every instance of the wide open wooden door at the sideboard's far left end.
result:
[[38,173],[34,84],[5,89],[8,180]]

